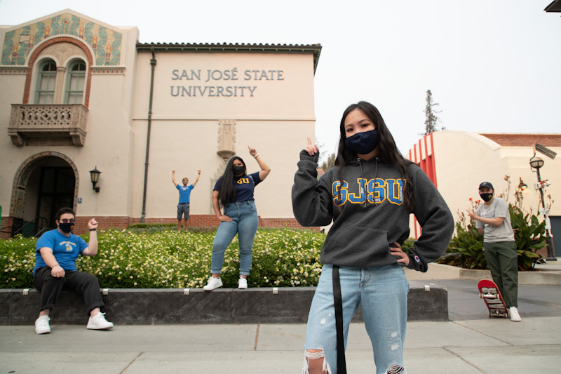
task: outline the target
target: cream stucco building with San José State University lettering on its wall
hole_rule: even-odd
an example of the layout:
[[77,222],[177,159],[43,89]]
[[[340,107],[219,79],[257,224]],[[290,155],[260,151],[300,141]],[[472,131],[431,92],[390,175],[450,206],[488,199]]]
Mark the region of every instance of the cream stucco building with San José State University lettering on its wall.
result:
[[[211,194],[224,160],[271,167],[256,188],[262,226],[296,226],[290,187],[314,138],[321,46],[141,44],[72,10],[0,27],[2,237],[53,227],[60,206],[103,228],[176,222],[177,189],[201,169],[191,225],[217,225]],[[101,171],[99,192],[90,171]],[[79,231],[80,232],[80,231]]]

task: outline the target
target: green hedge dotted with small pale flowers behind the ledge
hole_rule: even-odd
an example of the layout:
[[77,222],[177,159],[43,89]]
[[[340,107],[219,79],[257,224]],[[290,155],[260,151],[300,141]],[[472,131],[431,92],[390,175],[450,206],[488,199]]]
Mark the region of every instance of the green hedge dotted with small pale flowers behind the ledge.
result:
[[[99,251],[76,262],[95,274],[102,288],[201,288],[210,276],[215,232],[175,230],[134,234],[99,231]],[[88,241],[88,235],[82,235]],[[294,229],[261,230],[255,235],[250,287],[316,286],[325,234]],[[36,239],[0,239],[0,288],[32,288]],[[236,287],[239,274],[237,236],[224,256],[224,287]]]

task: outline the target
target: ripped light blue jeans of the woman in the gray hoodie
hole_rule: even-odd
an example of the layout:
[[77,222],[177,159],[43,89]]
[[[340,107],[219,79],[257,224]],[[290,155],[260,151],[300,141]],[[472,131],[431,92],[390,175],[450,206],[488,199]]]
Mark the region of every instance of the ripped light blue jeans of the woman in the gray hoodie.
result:
[[[304,349],[323,349],[330,373],[337,373],[337,331],[333,302],[332,265],[323,265],[308,316]],[[372,349],[376,373],[405,373],[403,344],[407,325],[409,282],[403,267],[391,265],[365,269],[340,267],[339,279],[343,299],[343,332],[346,347],[349,324],[358,305],[363,309],[364,323]],[[306,357],[318,359],[322,354]],[[325,368],[325,366],[324,366]],[[398,371],[398,370],[402,371]]]

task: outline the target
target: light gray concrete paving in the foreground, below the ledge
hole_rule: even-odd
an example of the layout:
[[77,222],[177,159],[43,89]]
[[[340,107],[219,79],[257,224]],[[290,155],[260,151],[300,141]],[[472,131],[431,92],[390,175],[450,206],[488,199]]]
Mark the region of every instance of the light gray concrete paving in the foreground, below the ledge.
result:
[[[520,286],[522,322],[487,316],[477,282],[440,284],[449,293],[448,322],[407,323],[409,374],[558,373],[561,368],[561,288]],[[111,320],[110,316],[107,316]],[[301,373],[304,324],[116,326],[90,331],[57,326],[0,326],[0,373]],[[363,323],[353,323],[349,373],[374,373]]]

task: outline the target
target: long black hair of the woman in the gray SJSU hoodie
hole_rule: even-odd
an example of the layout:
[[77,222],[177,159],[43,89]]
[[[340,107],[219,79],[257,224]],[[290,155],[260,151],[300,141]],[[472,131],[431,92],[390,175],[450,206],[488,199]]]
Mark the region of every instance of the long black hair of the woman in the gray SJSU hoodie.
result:
[[[370,118],[374,123],[376,130],[378,131],[378,156],[384,163],[389,163],[390,165],[397,166],[401,178],[405,179],[405,191],[403,195],[405,197],[405,206],[409,211],[413,211],[414,198],[413,198],[413,188],[412,182],[407,175],[407,166],[412,164],[412,161],[406,160],[402,154],[399,152],[396,146],[396,141],[393,140],[384,119],[381,118],[381,114],[374,105],[370,102],[360,101],[356,104],[349,105],[343,113],[343,118],[341,119],[341,126],[339,128],[341,132],[341,137],[339,138],[339,149],[337,151],[337,159],[335,159],[335,166],[339,166],[339,171],[337,172],[337,178],[342,180],[343,169],[351,163],[351,161],[357,158],[355,152],[347,148],[345,145],[346,133],[345,133],[345,119],[349,113],[353,112],[355,109],[360,109]],[[340,187],[340,184],[339,184]],[[342,209],[342,206],[339,206]]]

